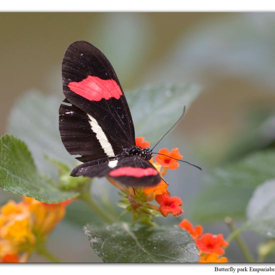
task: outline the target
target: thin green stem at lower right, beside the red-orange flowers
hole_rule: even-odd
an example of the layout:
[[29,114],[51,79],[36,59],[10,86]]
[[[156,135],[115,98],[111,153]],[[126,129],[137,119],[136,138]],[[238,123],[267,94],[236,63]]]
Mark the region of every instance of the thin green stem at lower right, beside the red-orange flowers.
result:
[[229,230],[231,231],[231,234],[227,237],[227,242],[231,242],[234,238],[236,239],[236,242],[241,250],[241,252],[243,253],[243,255],[245,256],[245,258],[247,259],[248,262],[255,262],[253,255],[251,254],[251,252],[249,251],[247,245],[245,244],[243,238],[240,236],[240,232],[242,231],[242,228],[235,228],[232,218],[231,217],[226,217],[224,219],[225,223],[227,224]]

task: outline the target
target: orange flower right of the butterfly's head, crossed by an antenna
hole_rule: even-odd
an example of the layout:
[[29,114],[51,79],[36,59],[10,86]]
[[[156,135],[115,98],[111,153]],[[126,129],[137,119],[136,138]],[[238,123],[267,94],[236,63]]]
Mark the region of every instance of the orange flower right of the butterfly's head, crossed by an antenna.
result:
[[[162,148],[158,151],[158,153],[161,154],[156,155],[155,161],[164,167],[168,167],[169,169],[178,168],[179,164],[177,163],[176,159],[181,159],[183,157],[179,153],[178,148],[173,148],[170,152],[167,148]],[[173,158],[171,158],[170,156]]]

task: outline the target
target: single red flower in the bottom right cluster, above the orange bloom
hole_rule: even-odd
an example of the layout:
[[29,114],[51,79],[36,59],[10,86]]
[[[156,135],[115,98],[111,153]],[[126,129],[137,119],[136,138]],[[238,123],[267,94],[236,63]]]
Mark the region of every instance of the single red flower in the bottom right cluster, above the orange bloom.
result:
[[225,241],[222,234],[213,235],[211,233],[205,233],[200,238],[195,240],[197,247],[203,253],[216,253],[221,255],[224,253],[222,246],[228,246],[228,242]]

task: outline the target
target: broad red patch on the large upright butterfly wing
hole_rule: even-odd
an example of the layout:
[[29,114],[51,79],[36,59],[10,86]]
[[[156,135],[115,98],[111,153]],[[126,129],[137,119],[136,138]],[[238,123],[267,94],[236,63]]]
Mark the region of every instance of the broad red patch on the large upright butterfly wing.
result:
[[120,87],[113,79],[101,79],[90,75],[79,82],[69,82],[68,87],[71,91],[94,101],[110,97],[118,99],[122,94]]

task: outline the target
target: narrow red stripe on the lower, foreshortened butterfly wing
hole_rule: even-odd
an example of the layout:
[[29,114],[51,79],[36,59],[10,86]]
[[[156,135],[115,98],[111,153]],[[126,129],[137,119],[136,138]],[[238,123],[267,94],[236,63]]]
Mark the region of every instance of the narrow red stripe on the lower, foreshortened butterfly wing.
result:
[[110,171],[109,175],[142,177],[147,175],[157,175],[157,173],[157,170],[153,168],[120,167]]

